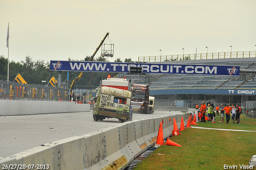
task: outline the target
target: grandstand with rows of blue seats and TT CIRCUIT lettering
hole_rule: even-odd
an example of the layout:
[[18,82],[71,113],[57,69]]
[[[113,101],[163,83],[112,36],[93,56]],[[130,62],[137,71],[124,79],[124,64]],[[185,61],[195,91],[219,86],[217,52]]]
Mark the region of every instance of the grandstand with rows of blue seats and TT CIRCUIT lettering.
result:
[[[151,62],[150,62],[151,63]],[[158,62],[159,63],[159,62]],[[204,65],[232,65],[240,66],[240,69],[256,69],[256,57],[250,58],[217,58],[204,60],[180,60],[166,61],[166,64],[204,64]],[[249,95],[256,95],[256,77],[254,73],[240,73],[240,76],[197,75],[197,74],[146,74],[125,75],[132,79],[132,83],[149,84],[150,95],[156,97],[156,101],[170,106],[175,103],[178,94],[191,94],[189,106],[194,107],[199,94],[215,95],[212,102],[222,103],[223,95],[240,95],[241,103],[248,100]],[[248,93],[243,90],[249,90]],[[253,92],[251,92],[253,91]],[[163,97],[164,95],[164,97]],[[160,98],[162,100],[160,100]],[[187,102],[186,102],[187,104]]]

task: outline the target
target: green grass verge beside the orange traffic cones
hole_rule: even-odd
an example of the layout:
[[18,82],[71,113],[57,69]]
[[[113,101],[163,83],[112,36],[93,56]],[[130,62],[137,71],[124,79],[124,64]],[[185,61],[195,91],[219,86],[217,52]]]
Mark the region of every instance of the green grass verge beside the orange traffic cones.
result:
[[[241,115],[240,124],[218,123],[217,120],[215,124],[198,122],[195,126],[256,130],[256,119],[246,115]],[[134,170],[220,170],[225,164],[240,169],[240,165],[248,165],[256,154],[256,132],[186,128],[181,133],[170,140],[182,147],[160,146]]]

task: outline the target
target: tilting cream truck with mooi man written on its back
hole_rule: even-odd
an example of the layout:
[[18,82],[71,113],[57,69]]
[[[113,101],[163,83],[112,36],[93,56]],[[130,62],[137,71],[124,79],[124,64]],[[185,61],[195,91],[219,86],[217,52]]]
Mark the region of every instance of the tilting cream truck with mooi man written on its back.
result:
[[120,122],[132,120],[130,81],[125,78],[100,78],[93,105],[93,119],[117,118]]

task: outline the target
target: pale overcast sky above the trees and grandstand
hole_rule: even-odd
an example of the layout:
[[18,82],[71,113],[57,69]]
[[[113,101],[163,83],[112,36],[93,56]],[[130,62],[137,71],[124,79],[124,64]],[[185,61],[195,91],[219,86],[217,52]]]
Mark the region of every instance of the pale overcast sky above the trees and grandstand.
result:
[[[256,0],[0,0],[0,55],[84,59],[105,34],[116,58],[256,50]],[[101,49],[96,54],[100,56]]]

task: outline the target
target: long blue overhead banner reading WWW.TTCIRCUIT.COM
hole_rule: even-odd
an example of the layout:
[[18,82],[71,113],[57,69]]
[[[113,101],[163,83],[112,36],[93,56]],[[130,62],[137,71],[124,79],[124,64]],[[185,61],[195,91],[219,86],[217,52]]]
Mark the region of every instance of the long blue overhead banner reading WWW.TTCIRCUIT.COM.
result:
[[50,61],[50,70],[79,72],[130,72],[130,68],[142,68],[142,73],[159,74],[209,74],[239,76],[239,66],[186,65],[159,63]]

